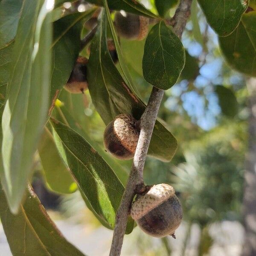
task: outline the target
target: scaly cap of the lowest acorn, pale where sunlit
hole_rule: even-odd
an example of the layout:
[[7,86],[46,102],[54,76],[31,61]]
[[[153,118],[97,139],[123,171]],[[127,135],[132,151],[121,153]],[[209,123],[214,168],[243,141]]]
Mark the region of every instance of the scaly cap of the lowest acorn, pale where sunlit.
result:
[[175,190],[168,184],[157,184],[145,194],[136,199],[131,207],[131,217],[136,221],[155,207],[175,195]]

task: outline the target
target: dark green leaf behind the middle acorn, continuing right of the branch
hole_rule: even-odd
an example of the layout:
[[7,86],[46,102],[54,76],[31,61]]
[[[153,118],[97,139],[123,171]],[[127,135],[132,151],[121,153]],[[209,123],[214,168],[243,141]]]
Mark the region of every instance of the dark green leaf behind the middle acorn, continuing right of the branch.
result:
[[[102,13],[99,28],[94,36],[87,79],[93,105],[105,124],[111,122],[120,113],[132,114],[136,119],[145,111],[145,105],[132,93],[116,69],[107,48],[106,16]],[[177,148],[175,137],[156,122],[148,154],[163,161],[172,159]]]

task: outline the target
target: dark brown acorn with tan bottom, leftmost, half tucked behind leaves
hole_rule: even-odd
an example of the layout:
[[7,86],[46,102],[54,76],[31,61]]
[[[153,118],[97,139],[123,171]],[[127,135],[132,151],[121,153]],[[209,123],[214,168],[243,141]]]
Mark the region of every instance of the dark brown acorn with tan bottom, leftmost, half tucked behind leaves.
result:
[[76,60],[70,78],[64,88],[70,93],[84,93],[88,88],[87,83],[87,58],[79,56]]

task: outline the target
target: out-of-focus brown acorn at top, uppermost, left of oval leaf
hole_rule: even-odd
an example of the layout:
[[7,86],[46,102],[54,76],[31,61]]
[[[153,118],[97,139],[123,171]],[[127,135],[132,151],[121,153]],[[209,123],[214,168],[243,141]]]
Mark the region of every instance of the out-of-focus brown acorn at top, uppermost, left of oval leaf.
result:
[[116,12],[114,24],[118,34],[130,40],[143,40],[148,34],[149,19],[125,11]]

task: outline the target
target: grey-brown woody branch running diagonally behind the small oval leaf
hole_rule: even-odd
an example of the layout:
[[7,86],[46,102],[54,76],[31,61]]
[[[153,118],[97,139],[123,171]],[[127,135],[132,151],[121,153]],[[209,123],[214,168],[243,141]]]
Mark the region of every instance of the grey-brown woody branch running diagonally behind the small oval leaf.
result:
[[[192,0],[181,0],[175,16],[169,22],[169,24],[173,26],[173,31],[179,38],[181,38],[183,30],[186,26],[186,20],[190,15],[191,2]],[[113,240],[109,254],[110,256],[120,255],[131,203],[134,196],[138,192],[142,192],[143,189],[145,189],[143,181],[143,169],[154,124],[157,119],[157,113],[163,99],[163,94],[164,90],[153,87],[151,96],[148,100],[148,105],[140,119],[140,137],[135,151],[126,189],[119,209],[116,213],[116,225],[113,233]]]

